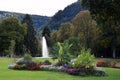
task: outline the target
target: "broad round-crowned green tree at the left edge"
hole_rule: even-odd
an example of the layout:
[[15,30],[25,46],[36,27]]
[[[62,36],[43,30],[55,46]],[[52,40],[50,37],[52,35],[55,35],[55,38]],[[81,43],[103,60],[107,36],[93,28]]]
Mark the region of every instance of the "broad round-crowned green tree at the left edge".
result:
[[19,53],[20,49],[17,47],[23,42],[24,35],[26,35],[26,25],[21,24],[17,18],[3,20],[0,23],[0,42],[3,42],[0,44],[2,52],[8,50],[14,41],[15,44],[12,45],[12,49],[14,48],[16,53]]

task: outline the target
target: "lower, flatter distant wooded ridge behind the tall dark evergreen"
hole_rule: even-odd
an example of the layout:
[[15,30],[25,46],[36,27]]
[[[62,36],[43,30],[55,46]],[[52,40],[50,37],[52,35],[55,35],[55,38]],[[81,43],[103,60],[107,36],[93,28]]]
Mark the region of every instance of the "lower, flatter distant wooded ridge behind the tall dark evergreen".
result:
[[[10,17],[17,17],[18,19],[22,20],[24,16],[25,14],[22,13],[0,11],[0,21]],[[30,15],[30,16],[33,20],[35,30],[37,30],[41,26],[48,24],[50,20],[50,17],[47,16],[40,16],[40,15]]]

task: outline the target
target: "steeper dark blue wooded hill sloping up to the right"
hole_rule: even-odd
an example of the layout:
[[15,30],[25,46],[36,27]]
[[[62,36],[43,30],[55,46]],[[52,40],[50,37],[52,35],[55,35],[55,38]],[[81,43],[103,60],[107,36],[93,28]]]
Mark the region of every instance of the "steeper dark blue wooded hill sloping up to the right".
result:
[[53,30],[57,30],[60,28],[61,23],[70,22],[82,10],[80,6],[80,2],[77,1],[69,6],[67,6],[64,10],[59,10],[48,23],[49,27]]

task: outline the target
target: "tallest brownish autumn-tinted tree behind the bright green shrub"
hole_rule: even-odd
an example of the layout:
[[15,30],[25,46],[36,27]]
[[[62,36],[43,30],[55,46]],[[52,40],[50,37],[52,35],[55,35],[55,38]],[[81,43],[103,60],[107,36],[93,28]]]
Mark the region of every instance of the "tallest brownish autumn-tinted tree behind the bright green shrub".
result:
[[81,47],[93,48],[95,39],[99,34],[99,28],[94,20],[92,20],[89,11],[81,11],[73,19],[73,36],[79,37]]

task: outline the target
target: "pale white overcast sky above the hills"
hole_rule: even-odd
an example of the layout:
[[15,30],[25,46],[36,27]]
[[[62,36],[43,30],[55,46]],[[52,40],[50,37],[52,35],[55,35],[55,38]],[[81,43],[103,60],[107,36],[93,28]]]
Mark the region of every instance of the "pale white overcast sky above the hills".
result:
[[53,16],[77,0],[0,0],[0,10]]

